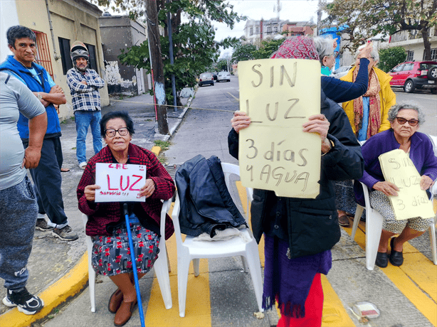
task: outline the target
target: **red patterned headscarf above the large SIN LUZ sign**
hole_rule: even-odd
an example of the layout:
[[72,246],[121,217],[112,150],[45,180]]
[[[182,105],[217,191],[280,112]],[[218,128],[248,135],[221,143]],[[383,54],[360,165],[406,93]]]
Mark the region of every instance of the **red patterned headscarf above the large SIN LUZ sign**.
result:
[[293,36],[285,40],[280,45],[278,51],[273,53],[270,58],[319,60],[319,54],[312,38],[308,36]]

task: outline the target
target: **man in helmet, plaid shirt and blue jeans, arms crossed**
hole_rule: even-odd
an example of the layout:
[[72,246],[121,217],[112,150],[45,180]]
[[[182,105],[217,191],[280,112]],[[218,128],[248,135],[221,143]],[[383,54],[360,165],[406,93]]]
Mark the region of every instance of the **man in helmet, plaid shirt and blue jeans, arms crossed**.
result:
[[86,160],[86,138],[88,127],[91,126],[93,134],[94,153],[102,149],[100,136],[100,94],[98,89],[105,86],[105,80],[95,70],[88,68],[90,54],[88,48],[80,41],[75,41],[70,50],[73,68],[67,72],[67,84],[73,102],[73,112],[76,122],[76,156],[79,168],[85,169]]

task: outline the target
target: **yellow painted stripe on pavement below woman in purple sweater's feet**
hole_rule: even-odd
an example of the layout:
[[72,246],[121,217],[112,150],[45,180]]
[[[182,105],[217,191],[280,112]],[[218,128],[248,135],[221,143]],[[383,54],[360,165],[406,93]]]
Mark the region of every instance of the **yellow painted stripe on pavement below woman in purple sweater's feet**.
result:
[[[359,223],[355,241],[364,250],[366,236],[362,229],[364,223]],[[349,235],[351,228],[344,228]],[[387,277],[393,282],[414,306],[421,311],[433,326],[437,326],[437,266],[408,242],[404,244],[404,264],[394,267],[389,264],[382,268]]]

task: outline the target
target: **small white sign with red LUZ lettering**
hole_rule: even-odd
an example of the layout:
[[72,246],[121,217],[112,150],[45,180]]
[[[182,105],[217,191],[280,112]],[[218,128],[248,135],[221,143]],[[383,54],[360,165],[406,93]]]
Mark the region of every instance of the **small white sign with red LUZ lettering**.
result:
[[95,164],[95,202],[145,202],[138,198],[146,183],[146,166],[131,164]]

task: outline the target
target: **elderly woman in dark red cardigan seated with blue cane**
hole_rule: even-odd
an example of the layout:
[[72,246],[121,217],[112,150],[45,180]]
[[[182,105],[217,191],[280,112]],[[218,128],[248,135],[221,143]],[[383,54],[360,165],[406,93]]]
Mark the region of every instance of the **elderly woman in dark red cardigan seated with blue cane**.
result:
[[[130,251],[135,251],[138,277],[141,278],[152,269],[158,257],[159,237],[167,240],[174,232],[168,215],[165,235],[159,234],[159,223],[161,200],[172,198],[175,187],[157,156],[130,143],[134,126],[126,112],[105,114],[100,122],[100,131],[107,146],[88,162],[77,193],[79,210],[88,215],[85,233],[93,237],[93,268],[97,274],[110,277],[117,285],[117,290],[110,297],[108,310],[115,313],[115,326],[122,326],[130,319],[137,304]],[[114,202],[96,202],[96,193],[101,192],[100,186],[95,185],[98,163],[109,164],[107,186],[112,190],[110,192],[115,197]],[[140,173],[135,174],[135,178],[130,176],[130,179],[127,175],[125,181],[120,180],[120,183],[110,181],[111,176],[114,176],[110,170],[125,170],[127,173],[130,165],[145,168],[145,182],[139,181]],[[138,186],[134,186],[133,183],[137,181]],[[117,195],[121,196],[127,190],[136,190],[137,187],[137,197],[142,202],[128,203],[134,243],[134,249],[130,249],[123,203],[117,201]]]

